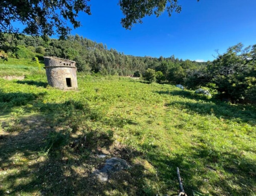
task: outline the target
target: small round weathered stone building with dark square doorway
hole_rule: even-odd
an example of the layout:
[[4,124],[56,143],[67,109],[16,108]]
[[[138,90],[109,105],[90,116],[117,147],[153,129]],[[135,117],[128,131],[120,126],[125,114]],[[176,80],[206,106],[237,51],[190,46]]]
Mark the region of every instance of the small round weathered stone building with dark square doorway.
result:
[[77,89],[76,62],[57,57],[44,57],[47,81],[58,89]]

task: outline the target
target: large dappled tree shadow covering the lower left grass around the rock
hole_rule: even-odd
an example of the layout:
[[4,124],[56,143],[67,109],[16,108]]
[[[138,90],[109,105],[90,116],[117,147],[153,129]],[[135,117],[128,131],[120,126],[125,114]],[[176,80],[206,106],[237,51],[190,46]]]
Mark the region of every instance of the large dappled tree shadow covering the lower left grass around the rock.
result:
[[[29,99],[33,100],[35,98]],[[142,163],[132,164],[135,157],[142,155],[141,152],[118,142],[114,144],[112,130],[92,129],[83,124],[82,121],[87,119],[100,122],[102,118],[88,104],[72,100],[47,104],[37,101],[31,110],[37,114],[20,117],[15,124],[1,125],[3,130],[9,127],[0,137],[0,176],[3,184],[0,195],[158,193],[147,181],[150,178],[154,181],[155,175],[145,173]],[[133,124],[129,120],[115,120],[120,126]],[[20,130],[10,126],[19,126]],[[99,182],[92,173],[94,168],[100,169],[105,164],[105,159],[96,156],[102,153],[107,153],[108,158],[125,159],[133,167],[112,174],[106,183]]]

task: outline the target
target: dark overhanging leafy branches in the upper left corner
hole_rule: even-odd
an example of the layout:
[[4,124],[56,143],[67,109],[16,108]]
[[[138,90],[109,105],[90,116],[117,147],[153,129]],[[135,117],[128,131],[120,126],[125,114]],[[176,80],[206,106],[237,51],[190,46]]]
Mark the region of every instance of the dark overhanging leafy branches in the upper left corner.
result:
[[[55,31],[61,39],[67,37],[71,28],[81,26],[76,20],[79,12],[90,13],[89,0],[12,0],[0,1],[0,49],[4,52],[15,52],[17,40],[20,39],[19,29],[12,23],[19,21],[25,25],[22,33],[32,36],[52,36]],[[56,12],[56,10],[58,10]],[[12,35],[8,41],[5,33]]]

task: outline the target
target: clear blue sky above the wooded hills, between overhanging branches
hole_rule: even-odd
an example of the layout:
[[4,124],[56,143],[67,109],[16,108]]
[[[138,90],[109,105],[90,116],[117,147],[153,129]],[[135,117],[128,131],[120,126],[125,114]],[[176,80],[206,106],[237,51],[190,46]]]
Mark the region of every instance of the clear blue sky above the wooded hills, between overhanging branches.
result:
[[143,24],[126,30],[118,0],[91,0],[92,15],[80,13],[79,34],[134,56],[213,60],[241,42],[256,44],[256,0],[179,0],[180,14],[145,17]]

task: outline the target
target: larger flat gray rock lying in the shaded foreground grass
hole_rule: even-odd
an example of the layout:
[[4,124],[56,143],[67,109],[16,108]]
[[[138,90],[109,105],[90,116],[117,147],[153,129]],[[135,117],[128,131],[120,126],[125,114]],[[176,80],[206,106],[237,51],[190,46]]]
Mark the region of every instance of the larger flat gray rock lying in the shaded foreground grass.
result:
[[126,170],[131,167],[125,160],[119,158],[111,158],[106,160],[105,166],[101,170],[95,170],[93,175],[100,181],[108,181],[108,175],[120,170]]

